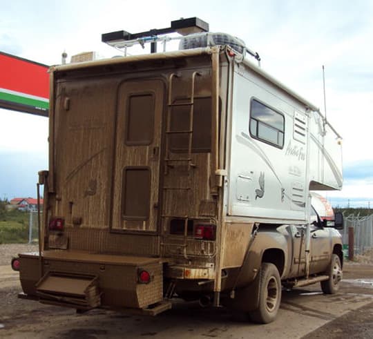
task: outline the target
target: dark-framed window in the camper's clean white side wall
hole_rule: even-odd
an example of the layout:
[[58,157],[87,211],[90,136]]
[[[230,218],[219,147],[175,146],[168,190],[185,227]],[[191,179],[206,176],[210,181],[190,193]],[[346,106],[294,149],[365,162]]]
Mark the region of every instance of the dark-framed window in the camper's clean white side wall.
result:
[[251,137],[283,148],[285,118],[282,114],[253,99],[251,100],[249,124]]

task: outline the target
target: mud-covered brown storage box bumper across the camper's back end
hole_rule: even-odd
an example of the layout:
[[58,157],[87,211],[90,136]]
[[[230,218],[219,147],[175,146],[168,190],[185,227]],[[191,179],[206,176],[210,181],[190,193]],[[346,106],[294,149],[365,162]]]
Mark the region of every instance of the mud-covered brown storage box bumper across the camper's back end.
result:
[[[44,251],[41,260],[37,253],[20,254],[19,260],[23,292],[41,302],[77,309],[146,309],[163,301],[160,258]],[[139,270],[150,273],[149,283],[139,282]]]

